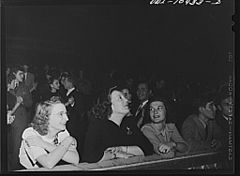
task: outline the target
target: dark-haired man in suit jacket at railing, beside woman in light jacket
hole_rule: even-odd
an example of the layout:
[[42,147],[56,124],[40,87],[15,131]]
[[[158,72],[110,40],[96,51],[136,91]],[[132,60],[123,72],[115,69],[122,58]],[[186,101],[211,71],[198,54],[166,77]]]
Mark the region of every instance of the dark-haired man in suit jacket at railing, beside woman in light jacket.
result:
[[215,121],[216,106],[211,92],[201,94],[194,102],[198,113],[185,119],[182,125],[182,136],[190,145],[190,151],[219,149],[222,133]]

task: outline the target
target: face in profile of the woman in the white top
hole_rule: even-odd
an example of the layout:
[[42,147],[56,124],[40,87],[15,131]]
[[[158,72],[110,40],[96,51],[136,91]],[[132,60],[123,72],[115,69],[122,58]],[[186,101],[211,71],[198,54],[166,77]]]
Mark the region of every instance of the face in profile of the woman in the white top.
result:
[[66,129],[68,121],[67,110],[62,103],[54,104],[49,115],[49,129],[62,131]]

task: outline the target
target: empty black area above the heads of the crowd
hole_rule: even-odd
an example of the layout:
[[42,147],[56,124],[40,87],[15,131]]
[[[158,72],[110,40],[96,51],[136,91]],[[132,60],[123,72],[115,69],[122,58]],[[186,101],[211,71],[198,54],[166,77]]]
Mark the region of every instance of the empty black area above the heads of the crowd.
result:
[[232,69],[233,13],[228,0],[201,6],[10,5],[6,61],[69,66],[92,76],[117,69],[219,81]]

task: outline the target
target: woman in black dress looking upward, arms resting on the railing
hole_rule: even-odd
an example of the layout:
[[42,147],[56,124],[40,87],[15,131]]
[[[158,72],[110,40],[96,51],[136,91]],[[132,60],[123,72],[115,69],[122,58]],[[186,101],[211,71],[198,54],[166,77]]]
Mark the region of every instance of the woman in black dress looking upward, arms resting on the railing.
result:
[[82,161],[94,163],[152,154],[152,145],[141,132],[128,135],[121,128],[128,113],[128,101],[120,89],[110,89],[109,95],[91,110]]

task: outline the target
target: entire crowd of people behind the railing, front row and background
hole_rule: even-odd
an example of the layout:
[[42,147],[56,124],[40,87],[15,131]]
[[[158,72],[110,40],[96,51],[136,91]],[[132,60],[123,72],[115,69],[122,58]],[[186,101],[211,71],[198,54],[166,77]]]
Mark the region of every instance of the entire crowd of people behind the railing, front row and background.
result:
[[9,170],[228,150],[229,80],[174,83],[116,70],[91,80],[47,64],[11,66],[6,75]]

